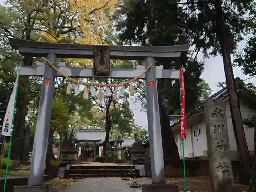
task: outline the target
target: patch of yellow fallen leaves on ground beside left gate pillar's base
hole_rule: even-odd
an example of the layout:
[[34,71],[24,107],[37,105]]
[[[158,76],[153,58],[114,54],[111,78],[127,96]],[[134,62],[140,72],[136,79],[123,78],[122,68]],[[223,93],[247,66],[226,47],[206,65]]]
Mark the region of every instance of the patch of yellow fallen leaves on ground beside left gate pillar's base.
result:
[[53,192],[61,192],[76,182],[74,179],[55,178],[44,184],[53,186]]

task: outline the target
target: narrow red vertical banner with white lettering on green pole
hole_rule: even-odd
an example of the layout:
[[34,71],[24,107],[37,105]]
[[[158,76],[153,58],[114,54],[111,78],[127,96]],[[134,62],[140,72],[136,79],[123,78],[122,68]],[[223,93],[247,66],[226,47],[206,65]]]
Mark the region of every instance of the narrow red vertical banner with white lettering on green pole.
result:
[[180,92],[181,92],[181,121],[180,121],[180,138],[186,137],[186,110],[185,110],[185,86],[184,86],[184,69],[180,70]]

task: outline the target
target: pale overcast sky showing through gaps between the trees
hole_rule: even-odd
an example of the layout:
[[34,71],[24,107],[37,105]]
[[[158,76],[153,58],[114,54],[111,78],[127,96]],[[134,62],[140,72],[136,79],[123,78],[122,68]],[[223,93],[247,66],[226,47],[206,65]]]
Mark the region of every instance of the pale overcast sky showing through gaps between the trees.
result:
[[[3,4],[4,0],[0,0],[0,4]],[[238,50],[242,49],[245,46],[245,40],[241,41],[238,47]],[[202,60],[203,55],[199,54],[198,55],[198,60]],[[235,77],[240,77],[241,79],[246,79],[249,76],[244,75],[242,73],[241,68],[239,67],[234,67],[234,76]],[[216,86],[217,82],[221,82],[225,80],[225,74],[224,74],[224,68],[223,68],[223,61],[220,56],[217,57],[210,57],[209,59],[205,60],[205,70],[202,74],[202,78],[210,84],[210,87],[212,89],[212,94],[217,92],[219,88]],[[256,84],[256,77],[247,80],[246,82],[252,82]],[[137,104],[133,104],[132,100],[135,98],[131,98],[131,108],[134,112],[134,118],[135,118],[135,123],[147,127],[147,115],[144,112],[140,112],[141,109],[141,104],[137,102]]]

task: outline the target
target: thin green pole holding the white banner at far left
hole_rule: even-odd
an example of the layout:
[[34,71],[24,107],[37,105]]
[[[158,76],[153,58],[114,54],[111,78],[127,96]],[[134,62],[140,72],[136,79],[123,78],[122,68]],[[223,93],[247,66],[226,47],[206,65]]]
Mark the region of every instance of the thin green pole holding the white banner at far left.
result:
[[[18,70],[17,78],[18,78],[18,79],[17,79],[17,87],[16,87],[16,94],[15,94],[15,100],[14,100],[12,126],[14,126],[15,109],[16,109],[16,100],[17,100],[17,97],[18,97],[19,70]],[[12,129],[12,130],[13,130],[13,129]],[[11,146],[12,146],[12,132],[13,132],[12,130],[11,130],[11,138],[10,138],[10,142],[9,142],[8,158],[7,158],[7,162],[6,162],[5,183],[4,183],[4,190],[3,190],[3,192],[5,192],[5,189],[6,189],[6,181],[7,181],[8,166],[9,166],[9,163],[10,163],[10,153],[11,153]]]

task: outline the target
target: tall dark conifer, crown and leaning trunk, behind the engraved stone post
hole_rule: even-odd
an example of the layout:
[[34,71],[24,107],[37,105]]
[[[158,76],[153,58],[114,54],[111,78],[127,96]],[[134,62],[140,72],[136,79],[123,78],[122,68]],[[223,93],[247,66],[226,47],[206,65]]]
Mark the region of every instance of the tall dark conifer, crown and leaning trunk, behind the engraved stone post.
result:
[[247,23],[245,15],[253,1],[200,2],[190,0],[186,10],[191,12],[184,28],[194,34],[193,44],[205,56],[221,54],[229,96],[232,124],[236,138],[238,159],[241,168],[241,182],[248,183],[251,173],[250,157],[245,139],[237,89],[234,82],[231,54],[242,40]]

